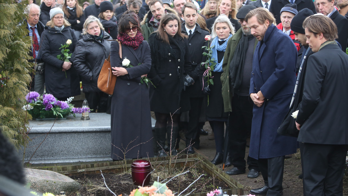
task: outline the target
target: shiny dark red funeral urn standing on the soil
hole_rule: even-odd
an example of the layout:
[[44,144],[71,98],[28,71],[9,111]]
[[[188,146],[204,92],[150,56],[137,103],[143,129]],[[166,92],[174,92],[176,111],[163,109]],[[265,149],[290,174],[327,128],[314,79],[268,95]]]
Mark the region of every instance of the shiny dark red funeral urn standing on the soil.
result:
[[151,178],[151,163],[147,160],[136,160],[132,163],[132,179],[134,185],[149,185]]

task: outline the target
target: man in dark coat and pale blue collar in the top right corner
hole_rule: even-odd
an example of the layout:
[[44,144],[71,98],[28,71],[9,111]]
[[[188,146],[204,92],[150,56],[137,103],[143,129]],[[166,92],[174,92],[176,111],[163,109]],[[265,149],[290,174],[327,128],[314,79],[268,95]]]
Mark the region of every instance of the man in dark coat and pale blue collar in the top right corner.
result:
[[348,39],[348,19],[340,15],[334,6],[334,0],[317,0],[317,7],[320,13],[332,19],[338,30],[338,38],[336,39],[342,47],[342,51],[346,52]]

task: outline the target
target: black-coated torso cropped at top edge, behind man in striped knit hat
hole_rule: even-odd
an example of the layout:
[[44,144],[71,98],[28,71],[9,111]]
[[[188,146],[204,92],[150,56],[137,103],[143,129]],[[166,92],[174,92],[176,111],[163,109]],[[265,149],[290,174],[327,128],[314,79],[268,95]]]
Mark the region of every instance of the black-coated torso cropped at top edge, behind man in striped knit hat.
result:
[[277,24],[281,23],[280,10],[288,3],[295,3],[297,5],[297,11],[300,11],[301,9],[304,9],[304,8],[308,8],[312,10],[313,13],[317,13],[317,11],[315,10],[315,5],[312,0],[272,0],[272,3],[269,7],[269,11],[276,18]]

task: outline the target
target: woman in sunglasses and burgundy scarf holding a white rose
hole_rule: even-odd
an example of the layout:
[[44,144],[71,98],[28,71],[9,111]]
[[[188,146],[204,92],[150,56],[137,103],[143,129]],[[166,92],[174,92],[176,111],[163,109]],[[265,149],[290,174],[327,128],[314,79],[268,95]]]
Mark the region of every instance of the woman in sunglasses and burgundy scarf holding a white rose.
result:
[[151,52],[139,20],[134,11],[126,11],[119,20],[118,41],[111,42],[110,63],[117,76],[111,103],[113,160],[153,157],[149,89],[141,82],[150,71]]

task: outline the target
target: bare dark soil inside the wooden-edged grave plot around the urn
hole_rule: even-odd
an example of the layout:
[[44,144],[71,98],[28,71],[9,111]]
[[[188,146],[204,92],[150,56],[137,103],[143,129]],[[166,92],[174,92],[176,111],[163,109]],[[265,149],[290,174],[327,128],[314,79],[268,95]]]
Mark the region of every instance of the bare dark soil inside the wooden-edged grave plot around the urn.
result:
[[[165,168],[167,169],[167,168]],[[158,170],[161,173],[152,173],[150,185],[153,184],[153,181],[157,181],[159,176],[159,182],[164,180],[167,182],[171,177],[174,177],[176,174],[181,173],[179,170],[172,172],[173,174],[167,174],[167,170]],[[194,167],[189,168],[189,172],[183,175],[175,177],[167,183],[169,189],[173,191],[175,195],[178,195],[186,187],[188,187],[193,181],[195,181],[201,174],[204,174],[200,177],[192,186],[185,190],[181,195],[190,193],[193,189],[193,193],[202,193],[207,191],[215,190],[217,187],[222,187],[222,189],[229,189],[228,185],[225,182],[220,182],[219,180],[210,177],[206,174],[201,168]],[[166,174],[164,174],[166,173]],[[132,174],[130,170],[125,173],[103,173],[105,182],[108,187],[116,194],[123,196],[129,195],[133,189],[138,188],[133,184]],[[77,196],[113,196],[110,191],[105,187],[103,178],[101,174],[83,174],[80,176],[72,175],[70,178],[77,180],[83,186],[83,190],[79,191]]]

